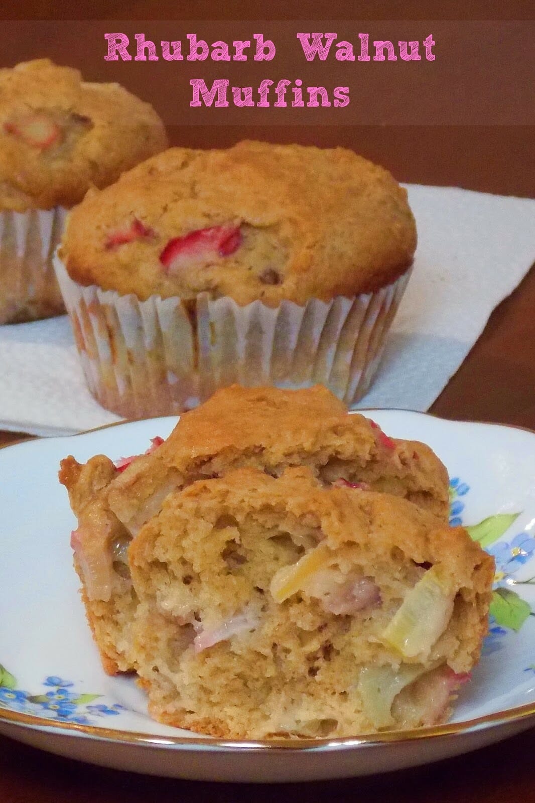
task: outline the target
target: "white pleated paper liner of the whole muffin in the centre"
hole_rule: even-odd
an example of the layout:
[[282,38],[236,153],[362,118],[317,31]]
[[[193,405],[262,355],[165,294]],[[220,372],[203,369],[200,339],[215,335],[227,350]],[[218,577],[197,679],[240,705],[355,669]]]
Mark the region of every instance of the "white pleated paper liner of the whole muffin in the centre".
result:
[[218,388],[321,383],[347,406],[368,389],[410,271],[354,298],[304,306],[228,297],[120,296],[83,287],[55,258],[55,271],[91,393],[125,418],[190,410]]

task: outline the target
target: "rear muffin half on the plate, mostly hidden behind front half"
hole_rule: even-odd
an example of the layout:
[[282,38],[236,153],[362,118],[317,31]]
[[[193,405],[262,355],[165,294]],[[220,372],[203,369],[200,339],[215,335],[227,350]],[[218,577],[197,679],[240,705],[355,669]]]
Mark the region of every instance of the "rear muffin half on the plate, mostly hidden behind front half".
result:
[[132,625],[137,594],[129,545],[176,489],[198,479],[255,467],[279,476],[306,466],[321,487],[347,486],[410,500],[447,523],[448,478],[423,443],[393,440],[372,421],[348,414],[327,389],[222,389],[180,418],[149,454],[113,463],[67,457],[59,480],[78,526],[71,536],[82,598],[105,671],[135,668]]

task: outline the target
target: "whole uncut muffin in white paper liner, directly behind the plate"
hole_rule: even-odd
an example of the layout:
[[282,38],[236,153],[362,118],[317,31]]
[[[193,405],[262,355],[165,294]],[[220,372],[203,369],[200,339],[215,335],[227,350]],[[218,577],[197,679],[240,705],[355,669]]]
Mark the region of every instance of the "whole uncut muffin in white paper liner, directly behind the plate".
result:
[[88,193],[57,273],[89,388],[127,418],[218,387],[321,382],[347,405],[377,368],[415,252],[385,169],[349,150],[174,148]]

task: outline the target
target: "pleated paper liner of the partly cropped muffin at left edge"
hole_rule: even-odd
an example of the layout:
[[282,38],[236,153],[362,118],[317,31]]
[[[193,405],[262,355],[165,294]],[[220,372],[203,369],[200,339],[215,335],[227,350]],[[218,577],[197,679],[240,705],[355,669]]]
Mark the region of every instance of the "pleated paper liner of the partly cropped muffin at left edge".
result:
[[67,210],[0,212],[0,324],[65,312],[53,256]]

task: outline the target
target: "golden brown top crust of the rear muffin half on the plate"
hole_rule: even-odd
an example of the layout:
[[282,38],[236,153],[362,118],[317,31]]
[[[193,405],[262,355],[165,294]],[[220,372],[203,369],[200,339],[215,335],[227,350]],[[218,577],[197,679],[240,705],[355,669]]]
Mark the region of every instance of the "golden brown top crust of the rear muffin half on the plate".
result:
[[385,438],[368,418],[349,414],[323,385],[218,390],[183,414],[154,454],[136,460],[113,481],[108,501],[128,527],[159,487],[168,483],[171,490],[185,475],[220,475],[244,464],[280,473],[282,467],[306,464],[333,482],[345,476],[348,461],[358,466],[358,476],[345,479],[414,495],[447,520],[447,471],[432,450],[419,442]]

